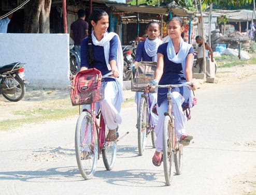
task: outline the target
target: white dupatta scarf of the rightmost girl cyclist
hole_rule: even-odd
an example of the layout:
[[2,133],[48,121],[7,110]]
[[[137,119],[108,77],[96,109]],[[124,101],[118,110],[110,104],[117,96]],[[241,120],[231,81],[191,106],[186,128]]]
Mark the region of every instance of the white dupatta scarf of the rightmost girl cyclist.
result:
[[[173,40],[170,39],[168,44],[167,44],[167,57],[169,59],[169,61],[172,61],[174,63],[181,63],[182,65],[182,70],[183,70],[183,76],[184,78],[186,78],[185,75],[185,68],[186,68],[186,60],[187,60],[187,55],[189,53],[190,48],[192,47],[191,44],[183,41],[183,39],[180,40],[180,46],[179,46],[179,51],[176,55],[175,50],[174,50],[174,46],[173,46]],[[193,63],[193,61],[192,61]],[[193,64],[191,64],[191,69],[192,69]],[[188,87],[184,86],[183,87],[183,97],[185,99],[189,100],[189,107],[192,107],[192,102],[193,102],[193,92],[191,89],[189,89]]]

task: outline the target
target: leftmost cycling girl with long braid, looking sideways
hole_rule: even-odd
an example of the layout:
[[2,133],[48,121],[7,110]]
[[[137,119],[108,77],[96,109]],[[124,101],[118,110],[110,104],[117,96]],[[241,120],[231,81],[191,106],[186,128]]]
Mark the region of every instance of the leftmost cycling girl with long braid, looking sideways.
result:
[[[88,37],[81,42],[81,71],[96,68],[102,75],[113,72],[113,78],[105,78],[105,99],[96,103],[104,117],[109,133],[108,141],[118,137],[118,124],[121,124],[121,103],[123,102],[123,54],[121,42],[116,33],[108,33],[108,14],[104,10],[93,10],[89,17]],[[92,31],[93,28],[93,31]],[[87,108],[90,105],[83,105]]]

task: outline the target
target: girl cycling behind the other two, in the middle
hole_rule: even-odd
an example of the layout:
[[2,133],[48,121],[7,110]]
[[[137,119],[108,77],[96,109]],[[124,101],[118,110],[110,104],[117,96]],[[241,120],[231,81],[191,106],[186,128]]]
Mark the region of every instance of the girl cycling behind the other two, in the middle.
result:
[[[157,51],[160,44],[162,44],[162,40],[158,38],[159,36],[159,24],[158,22],[151,21],[147,25],[147,35],[145,41],[141,41],[138,44],[136,49],[136,57],[135,57],[135,66],[138,62],[141,61],[149,61],[149,62],[157,62]],[[137,111],[139,109],[139,102],[142,92],[135,93],[135,103],[137,104]],[[152,108],[155,103],[157,103],[157,94],[149,93],[149,101],[150,105],[150,114],[152,118],[152,125],[155,126],[158,123],[158,115],[152,112]]]

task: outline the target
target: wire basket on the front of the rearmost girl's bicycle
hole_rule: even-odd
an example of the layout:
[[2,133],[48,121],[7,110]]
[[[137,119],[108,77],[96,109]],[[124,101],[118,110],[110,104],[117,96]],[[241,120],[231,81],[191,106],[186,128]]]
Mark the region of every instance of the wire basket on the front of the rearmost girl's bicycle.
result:
[[139,62],[135,66],[135,71],[133,71],[132,92],[144,92],[146,85],[154,79],[156,69],[156,62]]

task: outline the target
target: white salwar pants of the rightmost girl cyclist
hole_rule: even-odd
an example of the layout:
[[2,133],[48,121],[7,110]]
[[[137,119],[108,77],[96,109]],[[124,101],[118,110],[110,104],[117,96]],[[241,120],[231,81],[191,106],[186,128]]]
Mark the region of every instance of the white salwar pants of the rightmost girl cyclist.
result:
[[[178,136],[178,139],[185,134],[185,122],[186,116],[184,116],[182,111],[182,103],[184,102],[183,96],[180,95],[178,92],[173,92],[172,98],[172,109],[174,115],[174,129]],[[163,151],[163,127],[164,127],[164,113],[168,112],[168,102],[167,99],[164,100],[160,107],[157,104],[157,111],[158,111],[158,124],[154,128],[155,136],[157,139],[155,140],[155,150],[157,152]],[[167,136],[167,135],[166,135]]]

